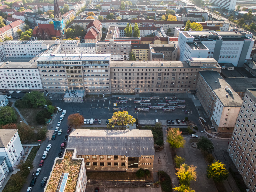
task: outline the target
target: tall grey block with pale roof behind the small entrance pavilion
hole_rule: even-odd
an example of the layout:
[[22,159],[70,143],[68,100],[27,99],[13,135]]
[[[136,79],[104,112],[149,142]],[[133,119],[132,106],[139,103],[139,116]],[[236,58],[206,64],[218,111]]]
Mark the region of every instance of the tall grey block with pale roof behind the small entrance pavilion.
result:
[[110,54],[41,54],[37,66],[45,92],[110,93]]

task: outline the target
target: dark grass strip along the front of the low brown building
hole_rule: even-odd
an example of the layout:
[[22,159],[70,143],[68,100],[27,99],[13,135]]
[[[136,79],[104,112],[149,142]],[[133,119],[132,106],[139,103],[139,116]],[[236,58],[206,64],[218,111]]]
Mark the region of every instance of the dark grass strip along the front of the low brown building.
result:
[[91,180],[124,180],[124,181],[153,181],[153,173],[150,176],[138,178],[136,172],[93,172],[87,171],[87,178]]

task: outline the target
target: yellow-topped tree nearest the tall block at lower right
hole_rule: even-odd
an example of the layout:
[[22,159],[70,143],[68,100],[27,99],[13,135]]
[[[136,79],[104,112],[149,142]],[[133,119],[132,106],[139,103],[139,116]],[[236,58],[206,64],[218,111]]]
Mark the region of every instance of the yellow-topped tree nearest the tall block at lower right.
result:
[[219,160],[208,165],[206,177],[207,179],[212,178],[215,182],[227,180],[228,170],[226,169],[226,165],[219,162]]

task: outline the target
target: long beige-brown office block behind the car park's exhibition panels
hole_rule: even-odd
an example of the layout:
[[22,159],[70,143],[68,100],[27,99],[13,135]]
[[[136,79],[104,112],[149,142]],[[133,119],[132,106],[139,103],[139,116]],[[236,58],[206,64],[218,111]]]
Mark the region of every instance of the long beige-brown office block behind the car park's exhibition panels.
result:
[[111,61],[111,92],[195,92],[198,72],[210,67],[221,71],[213,58],[193,58],[188,62]]

